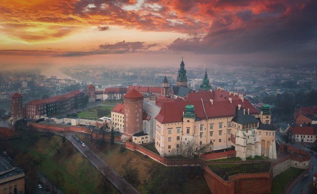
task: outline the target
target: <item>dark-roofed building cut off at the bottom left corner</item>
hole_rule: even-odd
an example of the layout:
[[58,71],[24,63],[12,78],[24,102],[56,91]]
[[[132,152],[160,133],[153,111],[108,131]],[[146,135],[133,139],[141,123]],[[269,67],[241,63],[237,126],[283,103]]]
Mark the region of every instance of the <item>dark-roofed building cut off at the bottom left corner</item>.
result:
[[25,174],[0,156],[0,193],[25,193]]

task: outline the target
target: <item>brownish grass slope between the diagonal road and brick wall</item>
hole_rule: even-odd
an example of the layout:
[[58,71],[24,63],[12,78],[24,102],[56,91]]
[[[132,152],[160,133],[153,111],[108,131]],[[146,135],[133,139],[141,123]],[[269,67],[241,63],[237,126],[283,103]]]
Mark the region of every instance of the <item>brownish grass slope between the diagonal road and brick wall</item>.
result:
[[[210,193],[205,179],[195,176],[194,167],[166,167],[137,151],[122,149],[123,144],[111,146],[109,141],[81,139],[121,177],[132,169],[137,178],[128,182],[141,193]],[[154,144],[146,147],[154,148]]]

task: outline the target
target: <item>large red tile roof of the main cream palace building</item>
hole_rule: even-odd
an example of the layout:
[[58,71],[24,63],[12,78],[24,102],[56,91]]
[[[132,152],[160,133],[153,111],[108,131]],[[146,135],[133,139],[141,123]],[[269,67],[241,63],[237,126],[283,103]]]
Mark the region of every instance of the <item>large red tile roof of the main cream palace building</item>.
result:
[[[227,93],[228,95],[224,95]],[[220,90],[216,94],[215,92],[210,91],[199,91],[195,93],[189,93],[185,99],[178,102],[170,102],[167,99],[160,98],[156,101],[156,105],[161,106],[162,109],[156,116],[156,120],[158,120],[160,123],[182,122],[185,106],[189,104],[194,105],[196,118],[200,119],[206,119],[206,115],[208,118],[234,116],[238,104],[240,104],[246,112],[247,109],[249,109],[249,113],[251,115],[258,113],[258,111],[252,106],[250,102],[248,102],[246,99],[244,99],[242,102],[238,95],[233,96],[232,94],[232,103],[228,100],[228,98],[224,99],[223,96],[229,96],[229,92],[227,93]],[[210,102],[211,99],[216,99],[214,100],[213,104]],[[204,108],[206,112],[204,111]]]

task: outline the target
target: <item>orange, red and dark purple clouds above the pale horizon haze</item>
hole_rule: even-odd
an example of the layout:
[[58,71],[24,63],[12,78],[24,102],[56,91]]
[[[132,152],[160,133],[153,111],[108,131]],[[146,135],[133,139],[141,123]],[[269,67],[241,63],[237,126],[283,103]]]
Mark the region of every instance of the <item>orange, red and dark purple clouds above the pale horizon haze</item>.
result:
[[[120,29],[129,29],[178,33],[178,39],[173,41],[174,38],[166,37],[164,42],[172,51],[197,54],[314,53],[317,47],[315,10],[315,0],[56,0],[49,3],[4,0],[0,5],[0,41],[10,40],[8,45],[12,42],[63,43],[61,40],[70,37],[67,44],[72,41],[78,44],[81,37],[88,39],[89,35],[82,32],[85,30],[95,33],[90,35],[91,38],[102,34],[102,41],[109,43],[96,49],[98,40],[94,39],[90,41],[94,46],[87,49],[81,45],[85,50],[78,49],[70,55],[162,49],[153,44],[155,40],[144,41],[140,36],[129,35],[127,42],[118,42],[125,36],[123,34],[120,39],[110,41],[108,38],[111,34],[120,34]],[[188,36],[184,38],[186,34]],[[76,35],[79,38],[75,38]],[[163,41],[158,43],[162,45]],[[43,46],[47,47],[51,45]],[[92,47],[94,51],[91,51]]]

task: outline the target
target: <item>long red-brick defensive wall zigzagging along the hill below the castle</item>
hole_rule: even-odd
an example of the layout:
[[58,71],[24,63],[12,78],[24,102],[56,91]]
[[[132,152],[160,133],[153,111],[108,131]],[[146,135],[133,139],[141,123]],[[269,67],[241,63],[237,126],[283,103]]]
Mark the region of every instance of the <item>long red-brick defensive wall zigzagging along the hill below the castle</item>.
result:
[[[87,129],[79,126],[53,126],[50,124],[43,123],[29,123],[29,125],[42,129],[55,132],[65,132],[65,131],[74,131],[74,132],[85,132]],[[94,137],[98,139],[103,138],[103,134],[94,133]],[[109,134],[105,134],[105,139],[110,139]],[[116,141],[121,141],[120,136],[115,136]],[[125,142],[125,147],[131,151],[138,151],[144,155],[147,155],[151,159],[165,165],[165,166],[196,166],[199,165],[203,168],[205,180],[212,193],[254,193],[256,190],[257,193],[269,193],[271,191],[271,185],[273,178],[278,174],[284,172],[290,166],[302,168],[305,163],[305,167],[309,167],[310,155],[302,150],[287,146],[280,145],[278,153],[287,152],[287,155],[277,159],[277,160],[267,160],[271,162],[269,172],[265,173],[244,173],[229,176],[228,180],[224,180],[219,177],[217,174],[212,172],[212,170],[206,165],[207,163],[223,163],[223,162],[212,162],[209,160],[222,159],[235,157],[236,152],[234,150],[227,152],[219,152],[212,154],[200,154],[199,158],[196,159],[167,159],[159,154],[156,154],[139,144],[132,143],[130,141]],[[225,163],[261,163],[263,160],[259,161],[228,161]],[[295,165],[295,162],[298,162]],[[301,163],[300,163],[301,162]],[[307,165],[306,165],[307,163]]]

